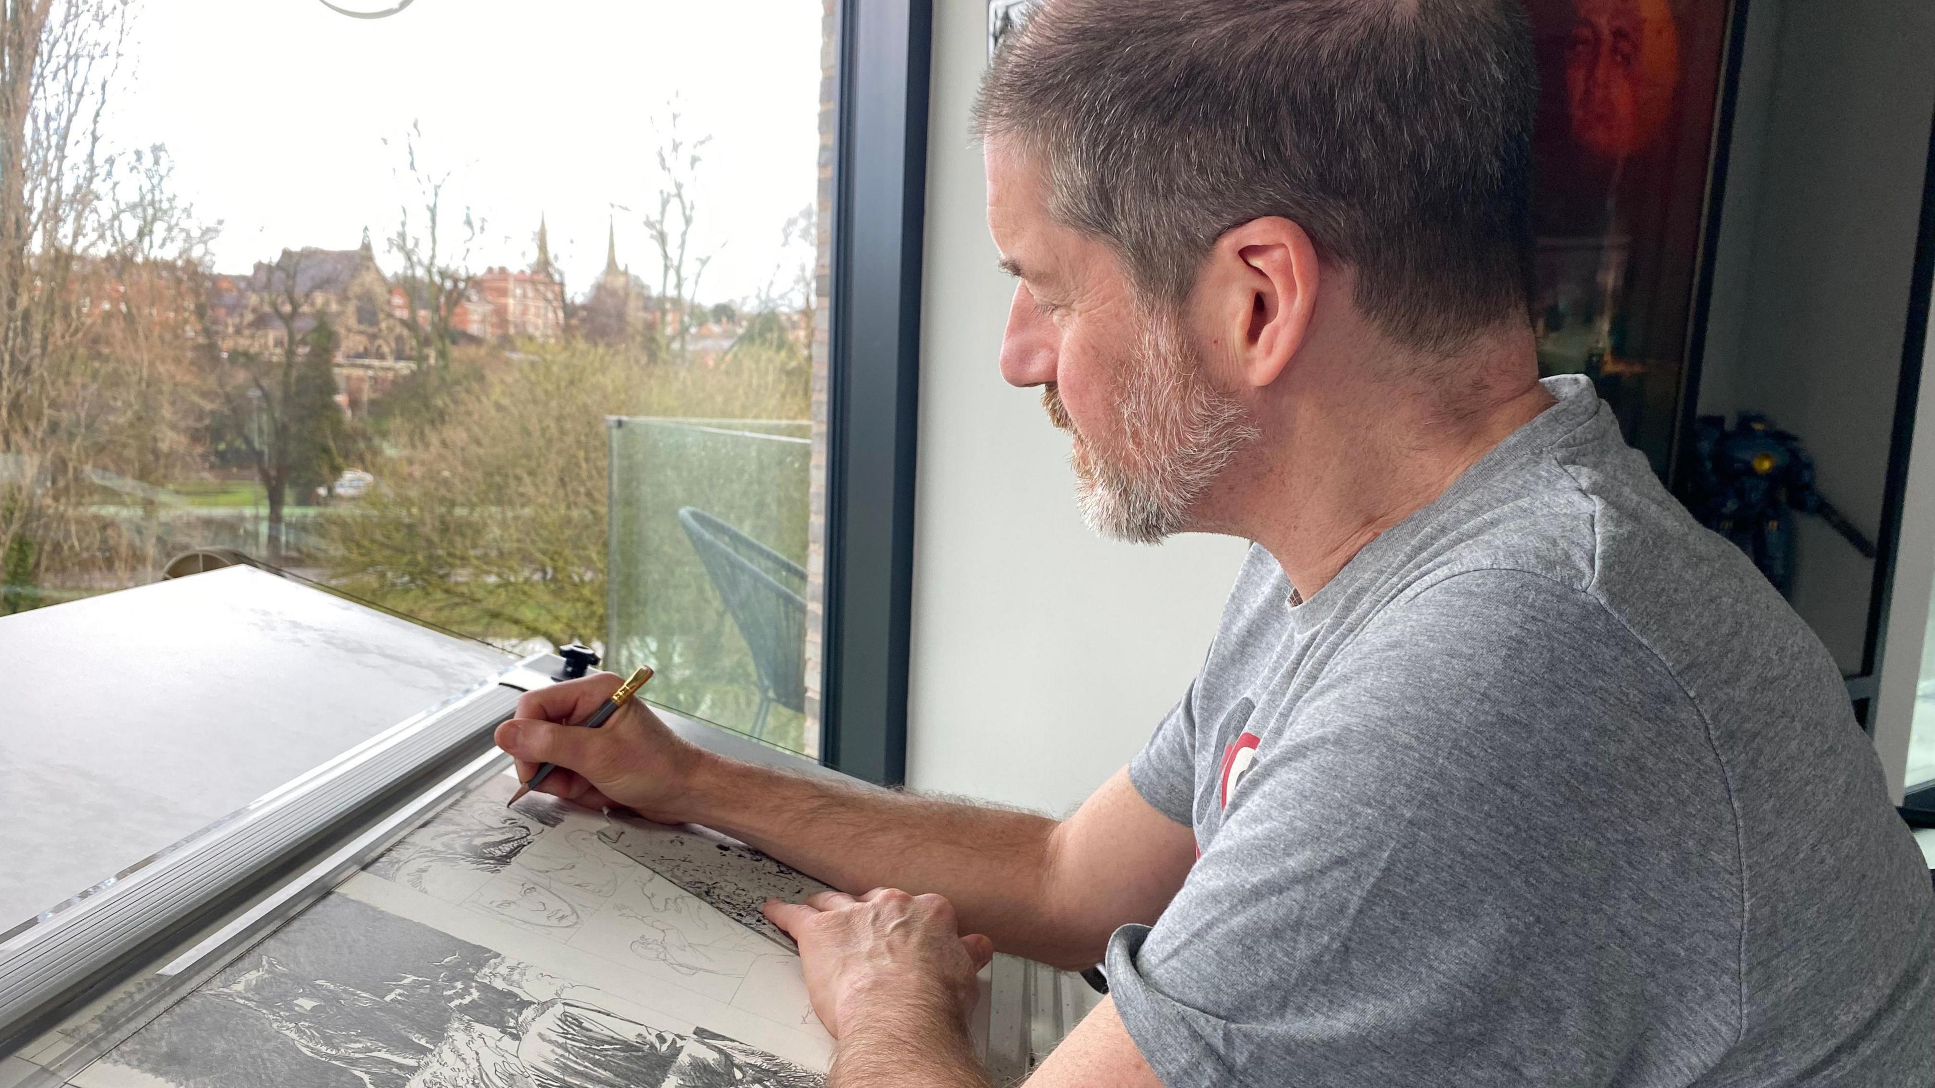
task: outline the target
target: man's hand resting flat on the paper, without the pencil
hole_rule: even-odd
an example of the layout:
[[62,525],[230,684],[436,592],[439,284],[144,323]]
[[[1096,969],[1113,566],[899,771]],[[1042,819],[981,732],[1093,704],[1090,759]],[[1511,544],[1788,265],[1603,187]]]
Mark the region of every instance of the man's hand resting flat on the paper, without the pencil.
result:
[[995,954],[981,933],[962,937],[938,894],[875,889],[859,898],[819,892],[805,904],[766,902],[766,918],[799,941],[813,1011],[844,1040],[855,1030],[968,1032],[975,974]]

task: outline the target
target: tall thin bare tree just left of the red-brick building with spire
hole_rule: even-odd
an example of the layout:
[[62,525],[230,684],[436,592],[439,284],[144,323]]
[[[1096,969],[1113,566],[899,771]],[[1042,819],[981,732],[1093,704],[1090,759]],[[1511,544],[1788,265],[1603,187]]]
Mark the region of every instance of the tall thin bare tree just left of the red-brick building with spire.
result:
[[397,321],[416,343],[420,366],[447,368],[457,308],[470,292],[470,250],[484,234],[484,223],[466,207],[457,228],[451,228],[447,223],[451,209],[443,205],[443,190],[455,170],[435,172],[424,166],[418,157],[422,139],[422,122],[410,122],[402,149],[416,207],[402,205],[389,252],[402,261],[397,285],[402,287],[406,302]]

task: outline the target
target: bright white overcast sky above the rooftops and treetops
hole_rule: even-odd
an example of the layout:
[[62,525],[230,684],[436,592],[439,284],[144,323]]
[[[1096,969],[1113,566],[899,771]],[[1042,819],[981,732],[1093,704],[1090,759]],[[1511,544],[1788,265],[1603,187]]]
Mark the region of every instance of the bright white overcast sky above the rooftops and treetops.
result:
[[778,263],[811,259],[782,254],[780,228],[815,199],[819,0],[416,0],[389,19],[317,0],[137,12],[108,143],[168,147],[197,217],[223,221],[219,271],[284,246],[354,248],[364,227],[395,269],[383,240],[410,192],[402,136],[416,120],[420,163],[455,170],[451,221],[462,205],[484,219],[474,269],[528,265],[544,213],[551,257],[582,294],[621,205],[619,261],[656,285],[640,213],[656,203],[654,120],[673,95],[681,132],[712,136],[695,252],[718,256],[699,296],[745,298]]

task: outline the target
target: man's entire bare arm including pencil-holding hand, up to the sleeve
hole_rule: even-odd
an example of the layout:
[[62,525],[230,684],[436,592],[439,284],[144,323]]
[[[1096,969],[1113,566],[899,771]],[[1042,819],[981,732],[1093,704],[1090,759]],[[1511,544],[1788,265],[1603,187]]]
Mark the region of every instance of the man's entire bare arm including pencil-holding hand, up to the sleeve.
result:
[[679,740],[639,701],[582,722],[619,678],[594,674],[519,699],[497,745],[540,790],[658,823],[700,823],[836,889],[940,894],[960,927],[1004,952],[1080,970],[1124,922],[1153,923],[1196,860],[1196,832],[1118,771],[1062,823],[882,790],[840,776],[737,763]]

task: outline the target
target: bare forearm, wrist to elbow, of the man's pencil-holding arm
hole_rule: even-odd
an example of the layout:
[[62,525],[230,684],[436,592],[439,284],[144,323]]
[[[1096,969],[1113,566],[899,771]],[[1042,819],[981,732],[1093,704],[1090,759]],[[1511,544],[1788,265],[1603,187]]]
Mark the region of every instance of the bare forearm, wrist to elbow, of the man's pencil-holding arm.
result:
[[1057,962],[1107,937],[1070,931],[1078,923],[1055,916],[1053,819],[726,759],[702,765],[689,798],[693,823],[842,891],[942,894],[962,931],[987,933],[1004,952]]

